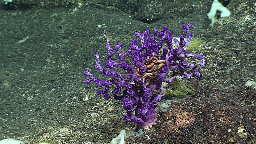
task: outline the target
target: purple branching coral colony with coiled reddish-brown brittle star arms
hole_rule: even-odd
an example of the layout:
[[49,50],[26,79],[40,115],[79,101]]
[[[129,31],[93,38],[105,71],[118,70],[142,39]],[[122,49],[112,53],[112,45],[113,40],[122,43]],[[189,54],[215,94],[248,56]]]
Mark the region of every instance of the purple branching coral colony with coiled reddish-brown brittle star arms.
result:
[[[105,30],[103,34],[107,41],[106,48],[108,54],[106,55],[107,63],[105,68],[100,66],[99,53],[95,51],[96,64],[95,68],[100,70],[100,73],[110,76],[111,80],[99,80],[93,77],[92,73],[84,71],[85,76],[90,76],[90,79],[85,80],[85,84],[91,81],[98,86],[105,86],[105,90],[98,90],[97,94],[103,94],[105,99],[109,99],[109,86],[116,85],[112,91],[112,95],[116,100],[122,100],[124,109],[127,114],[124,116],[126,122],[135,122],[133,130],[136,128],[143,128],[152,125],[156,121],[156,103],[161,100],[162,94],[159,93],[153,96],[155,90],[165,92],[166,89],[162,87],[162,82],[171,84],[176,80],[176,76],[167,78],[169,71],[176,71],[180,76],[190,79],[194,75],[201,78],[199,66],[205,68],[204,56],[199,54],[187,53],[186,45],[192,39],[192,34],[189,33],[189,28],[194,28],[192,24],[183,24],[182,29],[185,34],[180,36],[180,41],[173,39],[176,48],[172,47],[172,31],[168,31],[167,26],[164,26],[163,31],[158,33],[156,29],[154,36],[149,36],[149,30],[146,29],[143,33],[135,32],[134,35],[140,38],[140,47],[134,39],[124,54],[121,53],[122,43],[119,42],[114,48],[110,47],[109,39],[106,36]],[[145,37],[146,36],[146,37]],[[161,39],[160,39],[161,38]],[[184,38],[188,41],[185,42]],[[158,42],[157,39],[160,39]],[[163,48],[163,54],[159,57],[159,51],[162,48],[163,42],[167,43],[167,48]],[[112,54],[118,54],[119,60],[111,60]],[[127,60],[131,55],[131,63]],[[201,60],[197,63],[188,63],[183,58],[196,58]],[[114,71],[114,67],[123,68],[127,75],[121,74],[119,71]],[[185,70],[191,72],[186,72]],[[193,70],[193,71],[192,71]],[[133,83],[134,82],[134,83]],[[123,93],[118,96],[119,93]],[[135,111],[134,111],[135,108]]]

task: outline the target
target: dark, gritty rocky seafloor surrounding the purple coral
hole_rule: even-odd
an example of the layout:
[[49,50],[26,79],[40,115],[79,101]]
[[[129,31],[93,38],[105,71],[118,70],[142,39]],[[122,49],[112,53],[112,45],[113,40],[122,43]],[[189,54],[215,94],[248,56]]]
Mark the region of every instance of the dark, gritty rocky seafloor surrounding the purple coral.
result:
[[13,2],[0,2],[0,140],[109,143],[133,124],[123,120],[122,101],[84,84],[84,70],[104,78],[94,68],[94,51],[102,62],[107,53],[103,30],[119,35],[112,46],[127,48],[131,32],[167,25],[180,36],[182,24],[192,23],[191,33],[204,40],[195,53],[207,67],[191,82],[196,94],[172,103],[126,144],[256,143],[256,92],[244,86],[256,80],[255,0],[228,1],[232,14],[217,12],[213,27],[206,15],[212,0]]

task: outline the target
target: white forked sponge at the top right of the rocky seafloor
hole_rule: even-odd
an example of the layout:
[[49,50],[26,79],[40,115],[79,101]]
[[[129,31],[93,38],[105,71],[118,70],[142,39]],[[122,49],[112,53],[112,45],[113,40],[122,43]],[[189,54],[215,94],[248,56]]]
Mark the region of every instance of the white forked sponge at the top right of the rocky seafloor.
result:
[[208,18],[212,20],[210,26],[213,26],[213,23],[216,21],[215,15],[217,10],[221,12],[220,17],[229,17],[231,14],[231,12],[218,0],[213,0],[211,10],[209,13],[207,13]]

